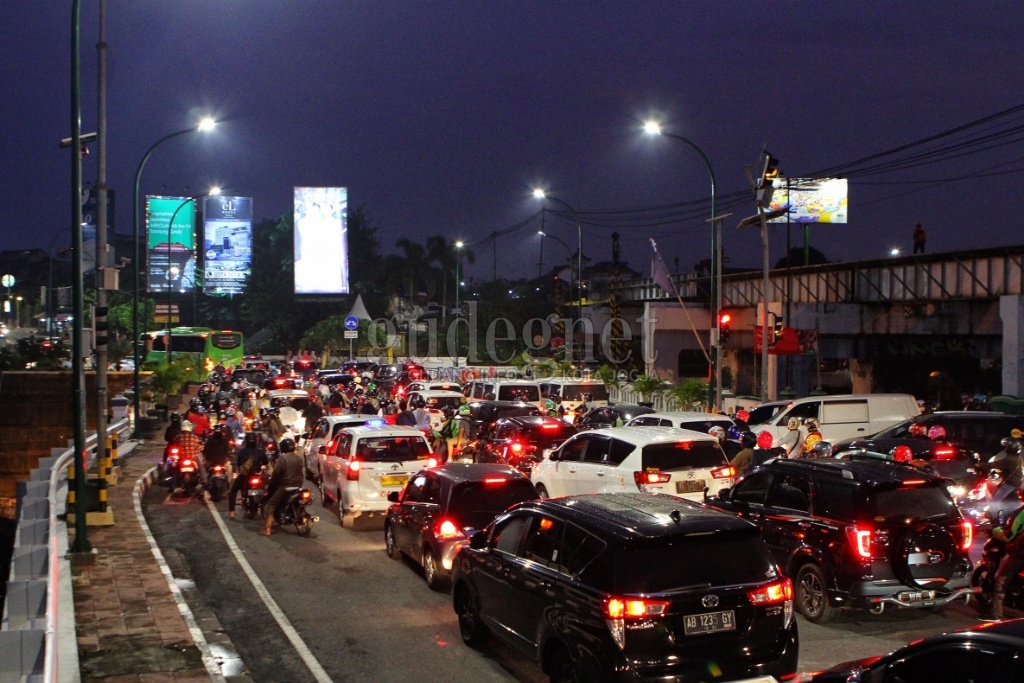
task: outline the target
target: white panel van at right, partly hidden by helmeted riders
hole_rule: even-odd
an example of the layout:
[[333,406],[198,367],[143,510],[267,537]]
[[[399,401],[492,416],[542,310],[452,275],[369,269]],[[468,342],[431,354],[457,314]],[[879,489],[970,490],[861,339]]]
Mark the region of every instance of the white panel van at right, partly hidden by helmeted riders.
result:
[[876,434],[883,429],[920,415],[918,400],[908,393],[863,393],[798,398],[774,412],[762,422],[748,422],[755,432],[768,431],[777,441],[786,431],[790,418],[801,424],[810,418],[818,421],[821,438],[839,441]]

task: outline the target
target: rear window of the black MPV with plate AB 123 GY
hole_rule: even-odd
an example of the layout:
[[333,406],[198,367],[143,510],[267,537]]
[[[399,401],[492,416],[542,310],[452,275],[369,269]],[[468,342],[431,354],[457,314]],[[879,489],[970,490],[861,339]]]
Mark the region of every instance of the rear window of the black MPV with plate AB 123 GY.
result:
[[621,593],[761,583],[772,566],[756,527],[643,539],[604,557],[613,567],[607,585]]

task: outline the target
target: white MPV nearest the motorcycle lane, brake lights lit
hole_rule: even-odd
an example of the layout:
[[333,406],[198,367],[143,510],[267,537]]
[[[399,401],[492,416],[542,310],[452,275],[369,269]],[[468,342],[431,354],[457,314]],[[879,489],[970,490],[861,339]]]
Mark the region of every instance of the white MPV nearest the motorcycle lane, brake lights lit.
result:
[[391,492],[401,490],[409,478],[437,461],[430,443],[413,427],[391,425],[348,427],[333,439],[324,457],[321,494],[338,501],[342,526],[351,528],[359,517],[379,518],[391,505]]

